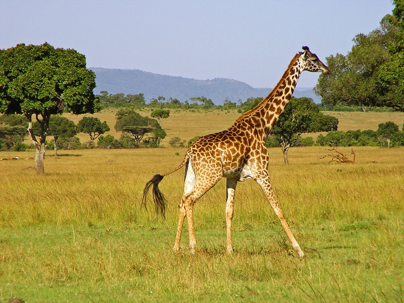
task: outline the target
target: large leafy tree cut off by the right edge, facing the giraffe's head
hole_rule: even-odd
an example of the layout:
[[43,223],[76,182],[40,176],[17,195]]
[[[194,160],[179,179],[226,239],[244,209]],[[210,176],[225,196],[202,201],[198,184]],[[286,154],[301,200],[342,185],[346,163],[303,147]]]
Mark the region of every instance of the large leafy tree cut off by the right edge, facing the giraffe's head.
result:
[[351,51],[326,58],[331,75],[320,75],[315,92],[324,104],[386,106],[404,112],[403,2],[368,35],[358,34]]

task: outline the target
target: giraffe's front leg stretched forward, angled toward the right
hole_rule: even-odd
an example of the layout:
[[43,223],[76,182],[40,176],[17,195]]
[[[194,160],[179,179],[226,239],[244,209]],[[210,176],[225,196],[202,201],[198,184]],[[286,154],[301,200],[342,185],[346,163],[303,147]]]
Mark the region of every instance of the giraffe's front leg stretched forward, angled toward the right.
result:
[[256,179],[257,183],[260,184],[262,190],[265,193],[265,196],[267,197],[269,204],[271,205],[272,209],[274,210],[276,216],[278,217],[279,221],[281,222],[281,225],[283,229],[286,232],[287,237],[289,238],[290,243],[292,244],[293,249],[296,251],[297,256],[299,258],[303,258],[305,256],[305,253],[301,251],[299,244],[297,243],[296,239],[294,238],[292,232],[290,231],[289,226],[286,223],[286,220],[283,216],[283,211],[281,207],[279,206],[278,201],[276,200],[276,197],[274,195],[274,192],[272,190],[271,186],[271,181],[269,179],[269,176],[267,175],[264,178],[259,178]]

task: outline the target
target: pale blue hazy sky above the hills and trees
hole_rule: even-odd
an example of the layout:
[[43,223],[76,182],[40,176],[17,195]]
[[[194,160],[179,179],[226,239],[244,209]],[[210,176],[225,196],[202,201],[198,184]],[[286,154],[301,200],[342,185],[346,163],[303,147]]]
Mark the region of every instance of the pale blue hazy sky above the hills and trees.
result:
[[[84,54],[87,67],[273,87],[302,45],[324,62],[345,55],[392,9],[389,0],[0,0],[0,48],[47,41]],[[298,87],[317,78],[305,72]]]

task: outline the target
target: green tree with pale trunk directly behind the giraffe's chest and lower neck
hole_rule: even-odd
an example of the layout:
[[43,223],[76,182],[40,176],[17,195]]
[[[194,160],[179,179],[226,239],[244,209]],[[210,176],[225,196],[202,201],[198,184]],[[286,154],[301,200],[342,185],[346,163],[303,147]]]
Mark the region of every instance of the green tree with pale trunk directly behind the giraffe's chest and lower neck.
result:
[[324,115],[311,98],[291,97],[270,134],[280,142],[283,160],[289,164],[287,152],[302,133],[336,130],[338,119]]

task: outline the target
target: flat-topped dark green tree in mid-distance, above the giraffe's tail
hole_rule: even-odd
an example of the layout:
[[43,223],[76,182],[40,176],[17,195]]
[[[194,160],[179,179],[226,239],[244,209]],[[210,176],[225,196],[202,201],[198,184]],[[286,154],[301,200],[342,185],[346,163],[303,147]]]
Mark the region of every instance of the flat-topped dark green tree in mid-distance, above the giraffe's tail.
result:
[[153,133],[160,126],[157,120],[143,117],[133,110],[120,110],[116,113],[116,117],[115,129],[133,137],[137,146],[145,134]]

